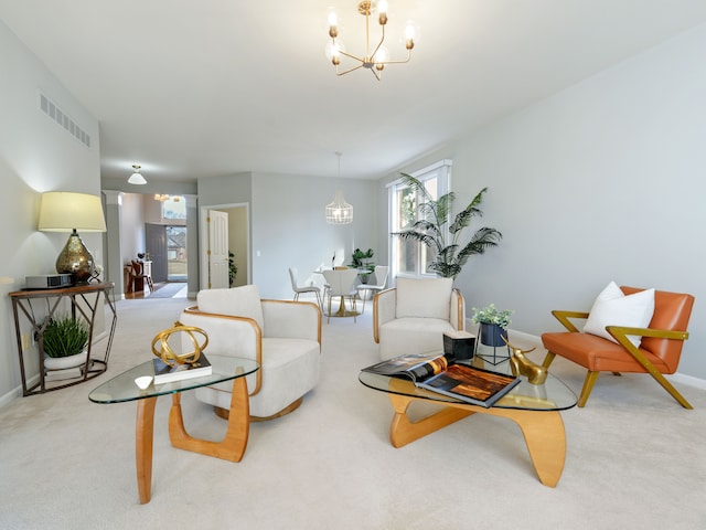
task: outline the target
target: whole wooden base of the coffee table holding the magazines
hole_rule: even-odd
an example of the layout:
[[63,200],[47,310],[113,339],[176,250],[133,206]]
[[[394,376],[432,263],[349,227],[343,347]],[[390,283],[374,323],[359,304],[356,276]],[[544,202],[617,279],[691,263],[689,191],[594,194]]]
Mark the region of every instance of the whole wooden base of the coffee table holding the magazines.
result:
[[407,415],[409,405],[417,400],[428,400],[392,393],[388,395],[395,409],[395,416],[389,426],[389,441],[394,447],[403,447],[472,414],[490,414],[512,420],[520,426],[532,464],[543,485],[553,488],[561,477],[566,460],[566,433],[558,411],[485,409],[462,403],[436,402],[443,409],[424,420],[413,422]]

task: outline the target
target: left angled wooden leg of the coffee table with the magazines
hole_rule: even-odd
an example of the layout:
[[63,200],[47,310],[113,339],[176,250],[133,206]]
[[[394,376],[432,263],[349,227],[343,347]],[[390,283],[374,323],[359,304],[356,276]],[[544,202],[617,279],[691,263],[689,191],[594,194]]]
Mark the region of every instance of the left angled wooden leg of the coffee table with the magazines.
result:
[[393,447],[403,447],[475,413],[475,411],[468,409],[445,407],[430,416],[413,422],[407,415],[407,409],[415,401],[414,398],[389,394],[389,401],[395,409],[395,416],[389,426],[389,442]]

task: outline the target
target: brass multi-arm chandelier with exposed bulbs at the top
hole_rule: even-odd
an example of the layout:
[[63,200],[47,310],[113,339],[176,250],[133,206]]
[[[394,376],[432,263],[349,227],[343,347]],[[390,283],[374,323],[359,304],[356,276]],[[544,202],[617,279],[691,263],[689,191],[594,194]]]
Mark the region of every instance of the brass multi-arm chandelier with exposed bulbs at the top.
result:
[[[370,36],[370,18],[377,11],[377,21],[381,26],[381,38],[377,44],[371,46]],[[381,0],[378,2],[364,0],[359,2],[357,12],[365,17],[365,55],[353,55],[345,51],[343,42],[339,39],[339,19],[333,10],[329,11],[329,36],[331,42],[327,44],[327,56],[335,66],[335,75],[345,75],[359,68],[370,70],[375,78],[379,81],[383,75],[383,70],[387,64],[407,63],[411,59],[411,49],[415,47],[415,33],[416,29],[414,23],[407,22],[405,26],[405,47],[407,49],[407,59],[399,61],[392,61],[389,59],[389,52],[383,45],[385,42],[385,25],[387,24],[387,0]],[[347,57],[353,62],[353,65],[344,71],[340,71],[341,56]]]

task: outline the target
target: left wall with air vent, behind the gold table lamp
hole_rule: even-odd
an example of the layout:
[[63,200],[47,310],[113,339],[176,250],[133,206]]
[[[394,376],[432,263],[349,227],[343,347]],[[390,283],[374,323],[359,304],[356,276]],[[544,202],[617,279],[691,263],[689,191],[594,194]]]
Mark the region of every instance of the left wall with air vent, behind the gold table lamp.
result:
[[[68,234],[36,231],[44,191],[100,193],[98,121],[83,108],[34,55],[0,22],[0,404],[20,395],[21,379],[12,308],[7,294],[24,287],[24,277],[54,273]],[[90,135],[87,148],[39,108],[40,91]],[[100,234],[82,234],[103,263]],[[36,356],[35,352],[32,352]],[[28,354],[29,356],[29,354]],[[30,375],[33,375],[32,373]]]

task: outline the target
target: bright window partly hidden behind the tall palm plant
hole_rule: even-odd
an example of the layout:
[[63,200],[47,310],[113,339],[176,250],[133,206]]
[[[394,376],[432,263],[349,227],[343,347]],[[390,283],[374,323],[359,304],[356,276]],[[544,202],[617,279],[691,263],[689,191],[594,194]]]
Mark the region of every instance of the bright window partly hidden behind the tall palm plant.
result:
[[[424,182],[429,194],[436,200],[450,190],[451,160],[441,160],[410,174]],[[388,190],[389,232],[399,232],[419,219],[421,197],[399,180],[388,184]],[[436,276],[436,273],[428,271],[428,264],[435,257],[434,248],[402,237],[391,237],[389,244],[393,277]]]

